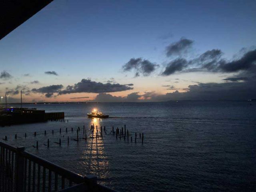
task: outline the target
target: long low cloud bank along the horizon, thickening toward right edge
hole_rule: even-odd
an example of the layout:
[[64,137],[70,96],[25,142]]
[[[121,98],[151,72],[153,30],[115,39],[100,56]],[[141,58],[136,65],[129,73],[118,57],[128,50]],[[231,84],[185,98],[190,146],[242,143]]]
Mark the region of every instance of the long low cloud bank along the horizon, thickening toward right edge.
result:
[[[232,80],[232,79],[231,79]],[[156,92],[134,92],[127,96],[116,97],[111,94],[99,94],[96,102],[131,102],[131,101],[168,101],[168,100],[248,100],[256,98],[256,78],[246,81],[228,81],[224,83],[192,84],[188,88],[178,89],[166,94]],[[170,90],[175,90],[172,86]],[[186,92],[179,92],[183,90]]]

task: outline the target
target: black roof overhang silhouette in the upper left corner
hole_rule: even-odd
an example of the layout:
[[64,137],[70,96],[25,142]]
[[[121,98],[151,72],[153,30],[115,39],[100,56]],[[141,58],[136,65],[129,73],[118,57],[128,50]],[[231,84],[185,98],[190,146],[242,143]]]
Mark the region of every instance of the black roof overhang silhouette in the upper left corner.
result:
[[53,0],[0,0],[0,40]]

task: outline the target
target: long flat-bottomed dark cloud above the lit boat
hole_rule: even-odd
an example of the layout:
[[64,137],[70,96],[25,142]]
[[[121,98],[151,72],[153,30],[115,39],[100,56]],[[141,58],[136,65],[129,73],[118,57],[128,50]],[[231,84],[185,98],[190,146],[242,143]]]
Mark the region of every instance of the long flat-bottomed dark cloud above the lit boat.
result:
[[121,84],[103,84],[101,82],[95,82],[90,79],[82,79],[81,82],[74,84],[74,86],[67,86],[65,90],[59,92],[59,94],[70,93],[109,93],[132,90],[133,88],[128,85]]

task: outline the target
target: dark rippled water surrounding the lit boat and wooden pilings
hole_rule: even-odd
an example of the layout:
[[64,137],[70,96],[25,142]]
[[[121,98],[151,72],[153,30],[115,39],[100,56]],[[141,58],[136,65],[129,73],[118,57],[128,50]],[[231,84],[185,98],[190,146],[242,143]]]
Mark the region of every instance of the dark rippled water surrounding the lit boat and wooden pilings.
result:
[[[119,191],[253,191],[256,188],[256,103],[159,102],[31,105],[46,112],[64,111],[66,123],[1,127],[8,144],[78,174],[95,174],[99,182]],[[90,119],[98,108],[108,119]],[[133,141],[103,134],[103,139],[70,141],[80,126],[122,128]],[[74,132],[71,132],[71,127]],[[62,133],[59,129],[62,128]],[[68,128],[68,133],[64,130]],[[51,130],[54,129],[54,134]],[[47,130],[47,135],[44,135]],[[38,132],[36,137],[34,132]],[[27,138],[24,138],[24,133]],[[135,132],[144,133],[144,144]],[[18,139],[14,139],[18,134]],[[50,139],[50,148],[44,144]],[[62,138],[62,146],[54,144]],[[39,150],[33,145],[39,142]]]

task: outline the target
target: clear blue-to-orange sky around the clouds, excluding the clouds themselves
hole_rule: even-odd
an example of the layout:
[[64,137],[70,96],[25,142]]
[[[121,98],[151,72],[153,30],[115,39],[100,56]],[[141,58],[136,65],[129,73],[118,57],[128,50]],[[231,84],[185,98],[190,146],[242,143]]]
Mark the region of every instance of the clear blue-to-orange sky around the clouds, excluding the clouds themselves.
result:
[[[102,83],[114,78],[120,84],[134,84],[133,90],[113,92],[116,96],[134,91],[165,94],[170,90],[162,85],[170,78],[186,80],[175,85],[177,88],[187,88],[192,81],[220,82],[230,74],[159,76],[171,60],[165,54],[166,46],[188,38],[194,44],[187,58],[220,49],[226,60],[232,60],[241,48],[256,45],[255,10],[255,0],[54,0],[0,40],[0,71],[12,75],[10,80],[0,80],[4,83],[0,94],[6,87],[19,84],[29,88],[52,84],[66,87],[83,78]],[[122,72],[125,63],[140,57],[160,67],[146,77],[134,78],[132,72]],[[56,71],[58,76],[46,75],[46,71]],[[40,84],[28,84],[33,80]],[[32,94],[28,100],[68,100],[39,95]]]

